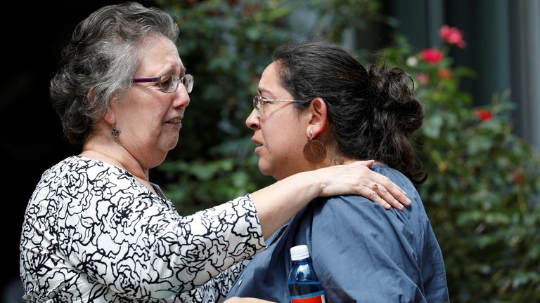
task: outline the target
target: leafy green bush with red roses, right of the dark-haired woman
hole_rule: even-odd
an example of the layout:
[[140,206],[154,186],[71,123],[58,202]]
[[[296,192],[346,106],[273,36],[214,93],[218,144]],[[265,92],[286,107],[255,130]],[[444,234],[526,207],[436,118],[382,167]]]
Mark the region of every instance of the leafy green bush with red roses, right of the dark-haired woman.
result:
[[451,300],[539,302],[539,155],[513,134],[508,93],[477,108],[459,89],[474,73],[452,66],[449,48],[465,45],[445,29],[442,50],[413,53],[397,39],[380,60],[409,72],[425,107],[416,140],[428,180],[418,190],[442,247]]

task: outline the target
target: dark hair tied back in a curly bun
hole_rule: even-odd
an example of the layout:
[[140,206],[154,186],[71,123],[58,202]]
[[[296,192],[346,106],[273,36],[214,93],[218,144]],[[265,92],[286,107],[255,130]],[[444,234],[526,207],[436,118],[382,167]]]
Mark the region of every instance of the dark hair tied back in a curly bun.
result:
[[316,97],[326,102],[333,140],[344,156],[375,159],[425,181],[414,156],[413,132],[424,111],[412,80],[401,69],[366,69],[340,46],[326,42],[285,44],[274,51],[281,84],[305,108]]

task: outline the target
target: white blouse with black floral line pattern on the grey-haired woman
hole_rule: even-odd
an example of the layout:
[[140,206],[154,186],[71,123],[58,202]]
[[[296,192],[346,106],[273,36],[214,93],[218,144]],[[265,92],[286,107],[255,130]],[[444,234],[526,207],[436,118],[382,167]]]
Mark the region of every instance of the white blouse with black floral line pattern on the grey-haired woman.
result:
[[27,302],[209,302],[262,249],[249,195],[182,217],[126,170],[72,156],[30,198],[20,274]]

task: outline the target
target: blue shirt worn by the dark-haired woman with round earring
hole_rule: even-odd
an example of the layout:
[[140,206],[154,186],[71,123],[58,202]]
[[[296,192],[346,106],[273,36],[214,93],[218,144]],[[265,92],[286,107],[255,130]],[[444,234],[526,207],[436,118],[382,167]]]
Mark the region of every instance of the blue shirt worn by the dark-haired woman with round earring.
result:
[[327,302],[449,302],[441,250],[413,184],[397,170],[373,170],[412,204],[385,210],[361,196],[316,198],[269,238],[228,297],[290,302],[290,248],[306,244]]

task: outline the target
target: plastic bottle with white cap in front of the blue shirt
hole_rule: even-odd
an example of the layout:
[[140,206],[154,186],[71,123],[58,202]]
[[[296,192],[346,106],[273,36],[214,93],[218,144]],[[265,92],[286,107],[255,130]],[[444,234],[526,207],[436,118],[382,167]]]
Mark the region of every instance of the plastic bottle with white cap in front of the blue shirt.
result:
[[317,278],[309,257],[307,245],[290,248],[290,269],[288,286],[292,303],[326,303],[323,285]]

